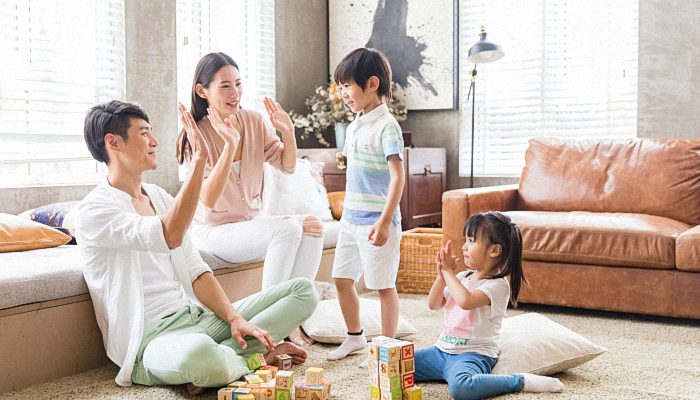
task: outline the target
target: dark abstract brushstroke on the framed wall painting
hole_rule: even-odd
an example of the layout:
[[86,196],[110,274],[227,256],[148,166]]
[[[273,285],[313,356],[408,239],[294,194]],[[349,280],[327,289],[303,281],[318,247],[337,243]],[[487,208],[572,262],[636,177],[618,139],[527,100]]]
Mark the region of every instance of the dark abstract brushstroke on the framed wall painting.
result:
[[420,72],[420,67],[425,62],[421,53],[427,46],[406,34],[406,14],[408,0],[379,0],[374,13],[372,35],[365,46],[380,50],[386,55],[397,85],[407,88],[408,78],[412,76],[437,96],[437,90]]

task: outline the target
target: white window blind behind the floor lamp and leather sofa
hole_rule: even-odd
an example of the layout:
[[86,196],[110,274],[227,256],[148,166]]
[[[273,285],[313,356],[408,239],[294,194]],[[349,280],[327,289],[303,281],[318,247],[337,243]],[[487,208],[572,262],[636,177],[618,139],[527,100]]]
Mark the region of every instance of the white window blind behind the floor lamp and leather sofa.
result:
[[517,176],[530,138],[637,134],[638,0],[460,3],[460,176],[469,176],[469,48],[482,25],[505,56],[477,65],[475,176]]

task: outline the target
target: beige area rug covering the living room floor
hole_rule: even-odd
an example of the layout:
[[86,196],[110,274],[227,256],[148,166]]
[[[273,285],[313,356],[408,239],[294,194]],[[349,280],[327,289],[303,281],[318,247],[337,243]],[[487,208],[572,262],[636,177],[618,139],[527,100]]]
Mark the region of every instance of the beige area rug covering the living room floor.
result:
[[[370,294],[371,296],[371,294]],[[401,295],[402,314],[418,329],[408,339],[417,346],[431,345],[440,330],[441,315],[428,310],[425,296]],[[559,394],[517,393],[499,399],[699,399],[700,321],[614,314],[589,310],[522,305],[509,315],[539,312],[608,348],[597,359],[558,377],[566,385]],[[367,399],[366,370],[357,365],[363,355],[329,362],[331,345],[309,349],[309,366],[326,370],[333,381],[335,399]],[[1,362],[1,361],[0,361]],[[303,373],[303,367],[295,369]],[[0,399],[190,399],[181,388],[132,386],[114,383],[115,366],[95,369],[25,390],[0,395]],[[447,386],[421,384],[424,399],[449,399]],[[211,390],[199,399],[216,399]]]

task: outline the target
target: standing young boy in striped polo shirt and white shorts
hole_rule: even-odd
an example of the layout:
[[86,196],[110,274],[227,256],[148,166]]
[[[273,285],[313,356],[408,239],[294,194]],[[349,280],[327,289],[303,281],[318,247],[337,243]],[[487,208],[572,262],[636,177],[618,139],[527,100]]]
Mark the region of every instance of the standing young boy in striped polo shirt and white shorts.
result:
[[348,126],[343,155],[348,159],[345,207],[335,250],[333,278],[348,337],[328,359],[340,360],[367,345],[360,323],[355,282],[364,272],[368,289],[378,290],[382,334],[394,337],[399,318],[399,268],[404,185],[401,127],[384,103],[391,98],[391,67],[374,49],[353,50],[335,69],[343,101],[357,113]]

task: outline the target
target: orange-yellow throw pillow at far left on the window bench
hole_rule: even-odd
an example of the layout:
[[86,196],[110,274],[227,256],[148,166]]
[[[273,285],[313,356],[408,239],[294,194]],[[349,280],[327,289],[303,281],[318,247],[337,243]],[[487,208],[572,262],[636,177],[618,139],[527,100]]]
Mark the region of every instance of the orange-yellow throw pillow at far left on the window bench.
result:
[[50,226],[0,213],[0,253],[56,247],[70,239]]

